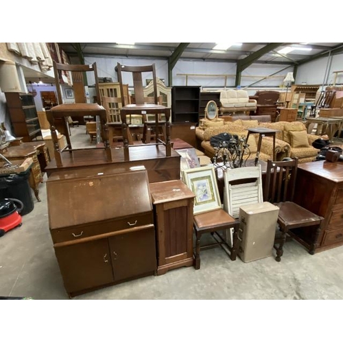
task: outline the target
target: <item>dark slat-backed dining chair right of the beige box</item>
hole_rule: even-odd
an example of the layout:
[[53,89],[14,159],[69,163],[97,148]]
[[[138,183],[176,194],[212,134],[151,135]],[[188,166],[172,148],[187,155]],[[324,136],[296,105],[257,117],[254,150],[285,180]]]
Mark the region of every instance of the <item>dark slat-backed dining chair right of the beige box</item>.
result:
[[320,227],[323,217],[304,209],[293,202],[295,191],[306,191],[305,189],[295,189],[296,173],[298,169],[298,158],[291,161],[270,161],[267,162],[265,184],[263,187],[264,201],[272,202],[278,206],[278,224],[281,230],[281,237],[274,241],[276,249],[276,261],[281,261],[283,255],[283,245],[286,237],[292,237],[292,230],[306,228],[312,230],[312,239],[309,246],[309,253],[314,255],[317,248],[317,241],[320,234]]

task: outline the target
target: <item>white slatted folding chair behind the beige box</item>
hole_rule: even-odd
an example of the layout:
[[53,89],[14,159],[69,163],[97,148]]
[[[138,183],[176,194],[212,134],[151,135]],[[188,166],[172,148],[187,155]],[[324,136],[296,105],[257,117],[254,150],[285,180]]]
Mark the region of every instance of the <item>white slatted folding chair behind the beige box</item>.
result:
[[[263,202],[261,165],[226,169],[224,172],[224,210],[235,219],[243,205]],[[233,244],[233,228],[226,230],[226,241]]]

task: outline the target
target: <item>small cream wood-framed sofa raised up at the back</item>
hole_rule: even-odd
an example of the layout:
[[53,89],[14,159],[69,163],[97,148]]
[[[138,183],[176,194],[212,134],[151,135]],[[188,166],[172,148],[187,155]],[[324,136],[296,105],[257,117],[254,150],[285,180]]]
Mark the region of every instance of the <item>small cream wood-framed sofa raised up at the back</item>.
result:
[[247,91],[243,89],[228,89],[220,91],[220,113],[235,113],[256,111],[257,102],[249,99]]

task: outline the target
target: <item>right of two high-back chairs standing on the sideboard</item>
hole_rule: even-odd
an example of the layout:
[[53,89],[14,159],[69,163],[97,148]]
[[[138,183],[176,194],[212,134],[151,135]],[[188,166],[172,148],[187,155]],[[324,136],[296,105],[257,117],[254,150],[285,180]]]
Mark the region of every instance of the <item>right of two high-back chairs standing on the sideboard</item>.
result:
[[[123,145],[124,145],[124,160],[130,161],[129,156],[129,143],[128,143],[128,125],[126,123],[126,115],[147,115],[152,114],[155,115],[155,126],[158,128],[161,123],[158,122],[158,115],[164,114],[165,115],[165,131],[166,137],[165,141],[161,139],[156,139],[156,143],[154,145],[165,145],[165,155],[171,156],[171,143],[170,143],[170,108],[158,105],[158,96],[157,96],[157,81],[156,81],[156,71],[155,71],[155,64],[146,65],[146,66],[127,66],[118,63],[117,64],[117,73],[118,73],[118,81],[120,84],[120,92],[121,96],[123,97],[123,77],[122,73],[130,72],[132,73],[132,80],[134,86],[134,99],[136,104],[126,104],[120,109],[120,116],[122,122],[122,130],[123,130]],[[143,73],[152,73],[152,80],[154,82],[154,103],[153,104],[146,104],[144,100],[143,94]],[[125,101],[122,99],[122,103],[124,104]],[[156,129],[157,130],[157,129]]]

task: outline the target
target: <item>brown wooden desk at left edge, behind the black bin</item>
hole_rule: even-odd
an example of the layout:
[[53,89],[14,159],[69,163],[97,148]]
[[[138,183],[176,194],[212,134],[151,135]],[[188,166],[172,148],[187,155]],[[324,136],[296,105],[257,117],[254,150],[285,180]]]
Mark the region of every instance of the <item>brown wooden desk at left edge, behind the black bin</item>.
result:
[[49,163],[49,152],[44,141],[34,141],[21,143],[21,145],[15,145],[8,147],[7,152],[3,153],[8,160],[21,160],[31,157],[33,165],[29,175],[29,185],[34,191],[36,199],[40,201],[38,186],[40,182],[43,182],[43,171]]

